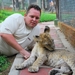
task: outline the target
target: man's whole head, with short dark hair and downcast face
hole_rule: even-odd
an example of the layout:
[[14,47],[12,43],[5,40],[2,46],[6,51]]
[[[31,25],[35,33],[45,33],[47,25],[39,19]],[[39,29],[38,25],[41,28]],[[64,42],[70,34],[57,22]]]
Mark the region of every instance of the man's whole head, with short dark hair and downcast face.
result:
[[33,28],[40,20],[41,9],[38,5],[30,5],[25,14],[25,23],[27,27]]

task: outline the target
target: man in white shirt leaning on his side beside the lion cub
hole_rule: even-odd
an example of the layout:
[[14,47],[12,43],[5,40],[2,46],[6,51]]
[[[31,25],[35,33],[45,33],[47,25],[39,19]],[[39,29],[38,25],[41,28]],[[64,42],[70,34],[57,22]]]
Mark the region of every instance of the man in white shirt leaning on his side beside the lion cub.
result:
[[11,56],[20,52],[27,59],[30,53],[25,48],[39,35],[40,15],[40,7],[30,5],[25,16],[15,13],[7,17],[0,25],[0,53]]

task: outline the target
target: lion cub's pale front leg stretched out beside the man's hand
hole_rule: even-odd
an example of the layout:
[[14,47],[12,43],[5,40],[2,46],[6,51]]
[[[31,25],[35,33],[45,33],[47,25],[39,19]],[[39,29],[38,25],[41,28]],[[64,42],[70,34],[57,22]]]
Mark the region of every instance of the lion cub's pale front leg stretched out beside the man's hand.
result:
[[33,48],[32,52],[31,52],[31,56],[27,60],[25,60],[23,63],[16,65],[15,68],[17,70],[26,68],[27,66],[30,66],[34,63],[35,58],[36,58],[36,46]]

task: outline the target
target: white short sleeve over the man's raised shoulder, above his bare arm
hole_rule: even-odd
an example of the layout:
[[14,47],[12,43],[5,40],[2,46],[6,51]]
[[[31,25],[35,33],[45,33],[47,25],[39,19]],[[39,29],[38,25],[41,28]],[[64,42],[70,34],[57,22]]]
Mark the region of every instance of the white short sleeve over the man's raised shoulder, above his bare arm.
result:
[[20,26],[21,16],[14,14],[9,16],[1,24],[0,33],[14,34]]

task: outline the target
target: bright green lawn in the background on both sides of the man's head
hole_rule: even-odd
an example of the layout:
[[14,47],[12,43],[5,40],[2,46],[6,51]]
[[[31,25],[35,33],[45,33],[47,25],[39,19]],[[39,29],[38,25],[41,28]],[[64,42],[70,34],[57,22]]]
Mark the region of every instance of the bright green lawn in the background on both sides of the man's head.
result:
[[[7,18],[9,15],[13,13],[20,13],[24,15],[25,11],[14,12],[14,11],[8,11],[8,10],[1,10],[0,22],[4,21],[5,18]],[[55,19],[56,19],[56,14],[42,12],[40,17],[40,22],[54,21]]]

